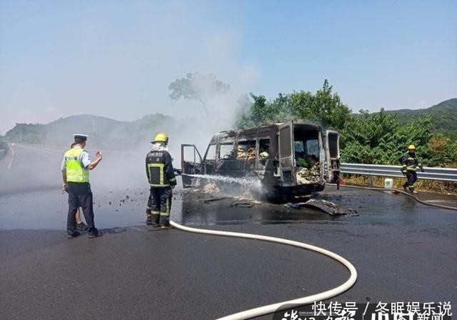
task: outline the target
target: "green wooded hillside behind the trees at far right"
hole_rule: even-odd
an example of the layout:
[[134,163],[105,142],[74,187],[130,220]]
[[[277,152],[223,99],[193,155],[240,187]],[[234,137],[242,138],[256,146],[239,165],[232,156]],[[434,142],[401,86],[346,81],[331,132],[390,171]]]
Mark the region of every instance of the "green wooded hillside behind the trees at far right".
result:
[[445,100],[427,109],[389,110],[387,114],[396,114],[401,123],[423,116],[431,116],[435,130],[451,139],[457,139],[457,98]]

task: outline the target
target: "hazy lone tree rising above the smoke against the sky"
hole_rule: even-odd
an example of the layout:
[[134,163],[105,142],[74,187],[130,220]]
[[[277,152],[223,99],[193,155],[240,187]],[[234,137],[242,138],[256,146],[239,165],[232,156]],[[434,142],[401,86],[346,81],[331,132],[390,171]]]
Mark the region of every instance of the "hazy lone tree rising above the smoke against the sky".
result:
[[214,74],[186,74],[186,78],[176,79],[169,84],[171,90],[170,98],[178,100],[180,98],[188,100],[198,100],[201,102],[206,116],[208,108],[206,103],[208,99],[219,94],[230,92],[230,85],[216,79]]

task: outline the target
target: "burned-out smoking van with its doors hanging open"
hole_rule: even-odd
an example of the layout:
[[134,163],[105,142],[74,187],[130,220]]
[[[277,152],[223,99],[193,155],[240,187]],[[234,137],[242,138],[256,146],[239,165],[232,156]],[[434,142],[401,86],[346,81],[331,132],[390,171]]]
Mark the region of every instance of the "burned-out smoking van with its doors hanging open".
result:
[[186,174],[203,174],[260,180],[271,200],[306,196],[338,181],[338,132],[293,121],[222,131],[203,157],[193,144],[182,144],[181,170],[184,188],[198,180]]

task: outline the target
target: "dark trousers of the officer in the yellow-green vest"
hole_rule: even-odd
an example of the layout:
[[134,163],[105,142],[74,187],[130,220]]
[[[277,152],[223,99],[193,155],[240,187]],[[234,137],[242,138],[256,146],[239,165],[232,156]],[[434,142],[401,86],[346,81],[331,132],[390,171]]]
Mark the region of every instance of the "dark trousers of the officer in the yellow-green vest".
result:
[[84,218],[86,218],[87,231],[89,234],[96,233],[94,226],[94,203],[92,192],[89,188],[84,194],[69,191],[69,214],[66,218],[66,232],[74,234],[76,232],[76,211],[81,206]]

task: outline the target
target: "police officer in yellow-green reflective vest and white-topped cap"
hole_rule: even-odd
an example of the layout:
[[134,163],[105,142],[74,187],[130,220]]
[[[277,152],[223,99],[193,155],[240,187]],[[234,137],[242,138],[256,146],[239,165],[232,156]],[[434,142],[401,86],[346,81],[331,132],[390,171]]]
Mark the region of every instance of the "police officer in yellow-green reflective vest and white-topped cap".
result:
[[66,151],[61,165],[64,190],[69,193],[69,214],[66,219],[69,238],[79,236],[79,231],[76,230],[76,211],[80,206],[86,218],[89,238],[103,236],[94,226],[92,191],[89,184],[89,170],[93,170],[100,163],[101,152],[96,152],[95,161],[89,159],[89,154],[84,150],[87,137],[85,134],[74,134],[74,146]]

